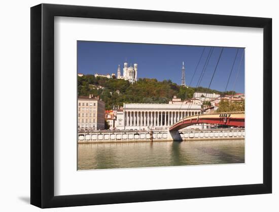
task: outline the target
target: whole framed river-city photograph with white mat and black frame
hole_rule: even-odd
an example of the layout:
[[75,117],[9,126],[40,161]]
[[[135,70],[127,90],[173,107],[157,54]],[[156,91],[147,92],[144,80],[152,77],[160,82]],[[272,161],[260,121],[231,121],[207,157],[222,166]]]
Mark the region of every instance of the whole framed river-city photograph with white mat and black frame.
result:
[[271,19],[31,8],[31,204],[272,191]]

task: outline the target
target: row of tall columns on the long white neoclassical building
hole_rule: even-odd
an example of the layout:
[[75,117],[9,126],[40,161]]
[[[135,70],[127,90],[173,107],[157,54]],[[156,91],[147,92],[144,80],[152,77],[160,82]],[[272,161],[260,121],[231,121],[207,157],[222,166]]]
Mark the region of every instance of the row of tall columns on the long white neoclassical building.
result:
[[200,114],[199,111],[125,111],[125,126],[171,126],[180,119]]

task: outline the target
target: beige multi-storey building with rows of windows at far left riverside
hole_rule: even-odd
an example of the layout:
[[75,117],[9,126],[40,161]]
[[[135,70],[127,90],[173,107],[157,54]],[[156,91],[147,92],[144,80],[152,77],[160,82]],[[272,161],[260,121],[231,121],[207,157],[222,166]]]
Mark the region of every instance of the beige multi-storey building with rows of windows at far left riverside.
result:
[[78,97],[78,130],[104,129],[104,102],[92,95]]

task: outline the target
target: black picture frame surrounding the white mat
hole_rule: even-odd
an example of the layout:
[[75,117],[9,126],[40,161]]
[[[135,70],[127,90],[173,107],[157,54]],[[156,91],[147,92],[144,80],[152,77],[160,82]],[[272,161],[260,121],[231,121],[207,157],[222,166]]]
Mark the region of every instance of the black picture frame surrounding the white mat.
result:
[[[263,184],[54,196],[54,17],[263,28]],[[31,204],[42,208],[272,192],[272,19],[41,4],[31,8]]]

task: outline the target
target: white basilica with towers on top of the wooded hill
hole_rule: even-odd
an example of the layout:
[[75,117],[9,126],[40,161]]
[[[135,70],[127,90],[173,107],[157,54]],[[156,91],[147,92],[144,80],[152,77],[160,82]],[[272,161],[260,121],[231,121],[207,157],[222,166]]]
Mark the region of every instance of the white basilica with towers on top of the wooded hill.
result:
[[118,65],[117,79],[128,80],[132,84],[135,83],[137,81],[137,64],[134,64],[133,67],[132,65],[128,67],[128,63],[125,62],[123,68],[123,75],[121,75],[120,65]]

